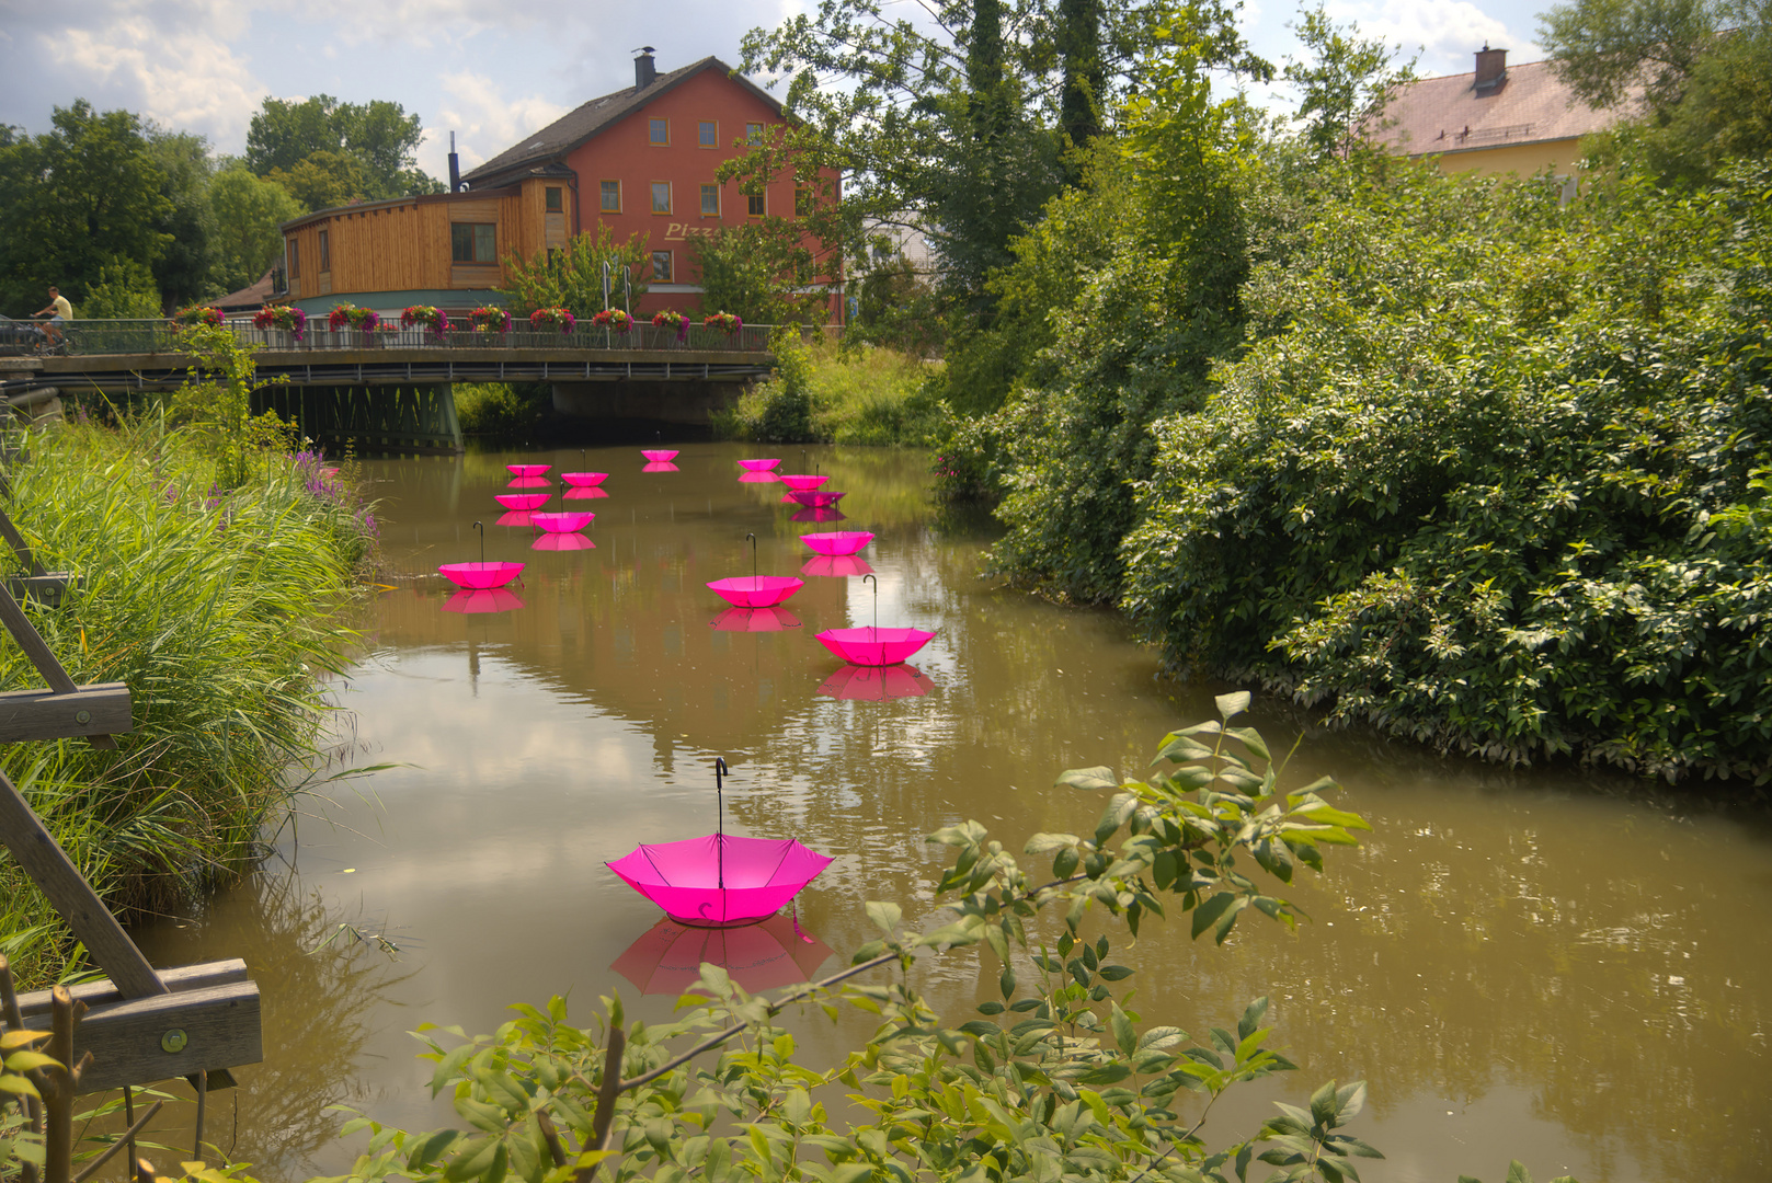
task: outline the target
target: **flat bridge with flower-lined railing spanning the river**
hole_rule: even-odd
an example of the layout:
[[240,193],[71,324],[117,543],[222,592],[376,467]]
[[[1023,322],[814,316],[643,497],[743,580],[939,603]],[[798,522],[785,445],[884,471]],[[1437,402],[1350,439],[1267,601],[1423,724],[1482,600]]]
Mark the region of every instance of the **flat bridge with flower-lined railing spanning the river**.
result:
[[[400,326],[331,331],[315,319],[299,338],[250,319],[227,328],[255,351],[255,411],[365,452],[459,452],[454,383],[549,383],[563,414],[707,423],[774,365],[766,324],[735,333],[696,324],[682,336],[650,324],[439,336]],[[0,356],[0,397],[32,407],[57,395],[142,395],[197,381],[183,331],[165,321],[73,321],[64,333],[66,351],[53,356]]]

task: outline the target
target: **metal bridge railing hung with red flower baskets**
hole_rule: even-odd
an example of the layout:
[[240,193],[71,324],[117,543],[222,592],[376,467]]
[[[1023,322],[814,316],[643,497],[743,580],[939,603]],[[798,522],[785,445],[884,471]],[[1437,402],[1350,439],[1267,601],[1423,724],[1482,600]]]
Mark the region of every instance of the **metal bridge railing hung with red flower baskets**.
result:
[[[640,349],[649,352],[767,352],[767,324],[746,324],[737,333],[725,333],[700,324],[691,324],[682,336],[677,329],[636,324],[627,333],[579,324],[571,333],[558,329],[548,333],[530,331],[528,326],[512,328],[509,333],[477,333],[471,328],[457,328],[445,335],[436,335],[424,326],[385,324],[379,329],[338,329],[333,331],[326,321],[315,317],[308,321],[301,340],[287,329],[253,328],[250,317],[230,317],[225,324],[234,336],[246,345],[266,351],[358,351],[358,349],[526,349],[526,351],[606,351]],[[67,352],[97,354],[149,354],[183,352],[184,331],[168,321],[69,321],[62,326]]]

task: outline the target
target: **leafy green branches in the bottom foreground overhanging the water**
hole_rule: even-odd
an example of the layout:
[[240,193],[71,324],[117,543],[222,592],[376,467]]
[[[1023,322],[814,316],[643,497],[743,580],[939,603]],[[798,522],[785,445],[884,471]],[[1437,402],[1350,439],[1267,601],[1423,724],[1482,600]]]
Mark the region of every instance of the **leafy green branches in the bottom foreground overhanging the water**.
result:
[[[617,1183],[1228,1183],[1247,1179],[1256,1158],[1278,1167],[1271,1179],[1357,1181],[1352,1158],[1377,1156],[1343,1132],[1364,1102],[1361,1084],[1324,1086],[1308,1110],[1283,1109],[1246,1137],[1207,1146],[1207,1114],[1226,1089],[1294,1068],[1267,1048],[1267,999],[1200,1038],[1141,1024],[1122,985],[1134,969],[1111,960],[1109,933],[1090,935],[1102,928],[1092,910],[1134,932],[1150,914],[1191,912],[1193,933],[1210,930],[1219,942],[1249,907],[1290,926],[1297,909],[1239,857],[1288,882],[1299,862],[1320,868],[1322,847],[1354,845],[1352,831],[1368,829],[1325,800],[1333,781],[1279,788],[1262,737],[1228,726],[1247,701],[1226,694],[1223,723],[1168,735],[1143,781],[1067,772],[1061,783],[1111,795],[1092,836],[1037,834],[1026,845],[1042,862],[1051,855],[1049,877],[1024,870],[976,822],[939,831],[930,841],[957,855],[939,889],[946,923],[911,935],[898,905],[868,903],[881,939],[847,969],[776,1001],[703,965],[672,1024],[627,1022],[620,999],[604,999],[595,1024],[576,1027],[560,997],[546,1009],[516,1006],[517,1018],[491,1036],[443,1029],[454,1047],[427,1024],[432,1093],[450,1094],[466,1128],[411,1133],[353,1121],[346,1132],[369,1130],[370,1140],[333,1183],[507,1174],[588,1183],[604,1167]],[[1061,909],[1061,923],[1040,923],[1049,909]],[[911,970],[976,944],[994,956],[1001,1001],[948,1025]],[[897,969],[888,985],[843,985],[886,967]],[[776,1024],[808,999],[833,1020],[847,1002],[877,1015],[879,1027],[843,1063],[808,1068]],[[843,1114],[838,1126],[829,1103]]]

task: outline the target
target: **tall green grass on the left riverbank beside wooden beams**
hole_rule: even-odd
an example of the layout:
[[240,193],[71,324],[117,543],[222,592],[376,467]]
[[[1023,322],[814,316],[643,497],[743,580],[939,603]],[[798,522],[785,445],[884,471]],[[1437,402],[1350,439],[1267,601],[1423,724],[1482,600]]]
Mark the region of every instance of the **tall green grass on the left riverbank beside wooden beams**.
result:
[[[268,455],[232,491],[213,450],[158,420],[67,425],[30,439],[7,506],[80,593],[25,611],[74,682],[126,682],[135,731],[9,744],[0,767],[120,910],[154,910],[230,878],[268,818],[321,765],[326,673],[354,634],[337,611],[376,524],[312,457]],[[14,645],[0,689],[41,687]],[[73,953],[48,903],[0,854],[0,949],[30,981]]]

